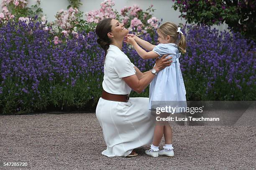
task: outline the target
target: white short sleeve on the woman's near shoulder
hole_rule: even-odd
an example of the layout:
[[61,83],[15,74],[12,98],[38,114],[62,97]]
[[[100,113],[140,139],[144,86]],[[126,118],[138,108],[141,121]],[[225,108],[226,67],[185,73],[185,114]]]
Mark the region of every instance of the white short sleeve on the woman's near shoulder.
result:
[[119,78],[135,75],[134,65],[131,63],[127,56],[118,56],[113,62],[115,72],[117,72]]

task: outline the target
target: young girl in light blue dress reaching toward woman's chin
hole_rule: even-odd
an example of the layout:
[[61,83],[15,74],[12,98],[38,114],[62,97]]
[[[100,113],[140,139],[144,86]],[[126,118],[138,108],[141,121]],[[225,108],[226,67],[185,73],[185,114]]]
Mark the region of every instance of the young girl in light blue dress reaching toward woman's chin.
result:
[[[145,60],[160,57],[164,54],[169,54],[168,57],[172,57],[172,65],[169,67],[164,68],[158,73],[154,69],[151,70],[152,74],[156,74],[157,76],[149,86],[149,109],[156,109],[156,106],[159,107],[164,101],[177,101],[179,102],[178,107],[187,107],[185,96],[186,90],[179,67],[179,57],[181,55],[179,51],[182,53],[186,52],[186,39],[180,30],[180,27],[178,28],[174,23],[164,23],[159,27],[157,32],[159,36],[159,45],[152,45],[133,34],[126,35],[126,42],[133,45],[138,54]],[[176,45],[175,43],[177,42],[179,35],[180,40],[178,45]],[[143,50],[137,43],[149,52]],[[157,101],[159,102],[157,103]],[[159,151],[159,144],[163,135],[165,145],[163,146],[164,149]],[[172,147],[172,128],[169,123],[166,123],[165,125],[156,125],[153,144],[151,145],[151,149],[146,150],[145,153],[153,157],[158,157],[159,155],[169,157],[174,156]]]

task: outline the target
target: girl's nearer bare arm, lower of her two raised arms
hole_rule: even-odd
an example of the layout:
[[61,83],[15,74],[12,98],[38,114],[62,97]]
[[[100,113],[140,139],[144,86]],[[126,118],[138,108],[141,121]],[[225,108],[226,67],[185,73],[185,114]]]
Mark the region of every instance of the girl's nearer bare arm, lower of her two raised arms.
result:
[[154,51],[146,52],[143,50],[133,37],[127,37],[127,42],[134,47],[134,49],[138,52],[138,55],[140,55],[144,60],[159,57],[159,55]]

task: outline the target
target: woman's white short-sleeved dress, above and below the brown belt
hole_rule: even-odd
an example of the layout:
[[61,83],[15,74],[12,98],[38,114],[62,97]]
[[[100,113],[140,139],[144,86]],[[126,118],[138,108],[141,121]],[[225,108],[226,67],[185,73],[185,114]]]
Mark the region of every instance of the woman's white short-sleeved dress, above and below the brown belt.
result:
[[[110,45],[104,64],[102,87],[118,95],[130,94],[122,77],[135,74],[134,65],[115,45]],[[147,108],[148,98],[131,97],[128,102],[99,99],[96,116],[103,130],[108,157],[127,156],[133,149],[152,143],[155,119]]]

